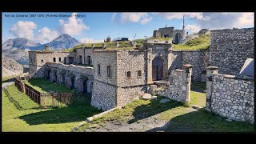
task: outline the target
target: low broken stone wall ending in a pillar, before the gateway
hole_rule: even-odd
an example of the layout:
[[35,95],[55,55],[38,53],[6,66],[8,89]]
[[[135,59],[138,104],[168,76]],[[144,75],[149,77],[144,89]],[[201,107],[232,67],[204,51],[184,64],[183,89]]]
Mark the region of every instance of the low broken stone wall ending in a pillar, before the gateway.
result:
[[184,65],[183,68],[184,70],[172,70],[170,81],[160,82],[158,89],[152,91],[178,102],[190,102],[192,65]]

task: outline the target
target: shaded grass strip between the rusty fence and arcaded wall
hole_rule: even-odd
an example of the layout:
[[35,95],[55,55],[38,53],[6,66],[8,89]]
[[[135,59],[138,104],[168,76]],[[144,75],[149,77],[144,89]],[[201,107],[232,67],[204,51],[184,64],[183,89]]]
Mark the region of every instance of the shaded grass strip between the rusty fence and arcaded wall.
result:
[[58,92],[58,93],[74,93],[75,89],[68,89],[63,84],[57,84],[46,80],[45,78],[31,78],[29,82],[25,82],[27,85],[32,86],[35,90],[42,93],[45,92]]

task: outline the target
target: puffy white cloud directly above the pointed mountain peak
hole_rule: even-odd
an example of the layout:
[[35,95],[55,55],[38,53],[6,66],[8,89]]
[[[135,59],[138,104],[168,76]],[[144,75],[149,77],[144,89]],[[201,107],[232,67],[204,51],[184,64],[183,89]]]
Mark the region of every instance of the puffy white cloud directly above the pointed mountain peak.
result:
[[63,19],[59,20],[58,32],[60,34],[70,34],[72,36],[79,35],[82,33],[83,30],[89,30],[90,27],[86,26],[82,19],[76,18],[75,15],[77,13],[73,13],[73,17],[64,21]]

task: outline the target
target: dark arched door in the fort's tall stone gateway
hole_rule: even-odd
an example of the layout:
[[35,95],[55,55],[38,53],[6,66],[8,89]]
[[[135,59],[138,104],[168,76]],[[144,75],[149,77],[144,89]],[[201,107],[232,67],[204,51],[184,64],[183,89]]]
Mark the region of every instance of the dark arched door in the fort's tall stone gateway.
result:
[[163,79],[163,60],[162,58],[154,58],[152,62],[152,78],[153,81]]

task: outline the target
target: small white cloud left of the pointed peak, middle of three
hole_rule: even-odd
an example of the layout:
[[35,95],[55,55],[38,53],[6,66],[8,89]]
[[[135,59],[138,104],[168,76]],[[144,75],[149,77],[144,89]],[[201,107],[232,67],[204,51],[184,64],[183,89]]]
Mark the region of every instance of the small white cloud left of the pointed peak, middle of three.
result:
[[35,42],[46,43],[54,40],[54,38],[58,37],[58,31],[50,30],[48,27],[43,27],[38,30],[38,34],[34,38]]

